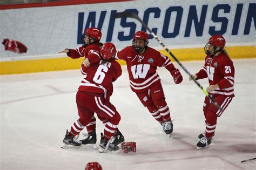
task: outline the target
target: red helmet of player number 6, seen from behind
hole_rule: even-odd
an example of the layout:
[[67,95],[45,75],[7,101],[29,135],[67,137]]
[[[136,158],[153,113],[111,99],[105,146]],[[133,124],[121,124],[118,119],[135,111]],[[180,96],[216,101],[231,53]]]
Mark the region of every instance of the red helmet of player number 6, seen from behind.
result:
[[105,43],[103,46],[100,48],[99,53],[102,58],[109,60],[114,57],[116,54],[116,46],[112,43]]

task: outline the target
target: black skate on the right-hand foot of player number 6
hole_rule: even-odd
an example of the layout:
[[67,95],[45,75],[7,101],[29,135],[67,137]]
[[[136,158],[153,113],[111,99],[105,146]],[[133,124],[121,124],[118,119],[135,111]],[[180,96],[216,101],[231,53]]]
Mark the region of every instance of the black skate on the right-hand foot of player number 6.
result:
[[111,137],[110,140],[105,140],[103,138],[103,133],[100,133],[101,139],[100,139],[100,148],[99,152],[100,153],[106,153],[107,151],[117,151],[119,147],[115,144],[113,144],[112,140],[114,137]]

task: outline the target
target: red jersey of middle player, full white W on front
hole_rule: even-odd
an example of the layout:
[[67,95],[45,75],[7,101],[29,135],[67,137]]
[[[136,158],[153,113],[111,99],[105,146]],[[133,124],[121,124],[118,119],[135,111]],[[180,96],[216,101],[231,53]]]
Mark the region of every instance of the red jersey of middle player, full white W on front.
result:
[[130,86],[136,93],[147,91],[151,84],[160,80],[157,67],[166,67],[169,71],[175,69],[169,57],[151,47],[147,47],[143,55],[139,55],[132,46],[127,46],[117,52],[116,58],[125,60]]

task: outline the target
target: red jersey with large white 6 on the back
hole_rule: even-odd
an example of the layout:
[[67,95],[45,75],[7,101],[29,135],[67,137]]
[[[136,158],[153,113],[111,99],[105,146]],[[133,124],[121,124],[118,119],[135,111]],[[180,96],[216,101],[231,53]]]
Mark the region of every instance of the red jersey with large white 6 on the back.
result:
[[105,98],[109,98],[113,92],[112,82],[122,74],[122,69],[116,60],[109,60],[103,63],[91,64],[89,67],[81,65],[81,70],[86,73],[86,77],[82,79],[79,90],[90,93],[104,94]]

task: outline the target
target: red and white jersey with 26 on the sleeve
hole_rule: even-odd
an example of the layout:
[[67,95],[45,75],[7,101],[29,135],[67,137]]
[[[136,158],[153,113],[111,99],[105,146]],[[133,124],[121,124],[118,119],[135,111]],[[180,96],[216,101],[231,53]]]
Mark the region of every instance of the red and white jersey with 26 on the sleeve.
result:
[[228,97],[234,96],[234,65],[232,60],[220,53],[211,58],[206,56],[205,65],[197,73],[197,79],[207,78],[210,85],[218,84],[219,88],[208,92],[209,94],[221,94]]

